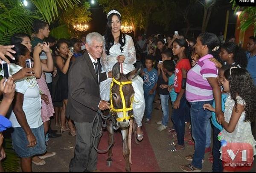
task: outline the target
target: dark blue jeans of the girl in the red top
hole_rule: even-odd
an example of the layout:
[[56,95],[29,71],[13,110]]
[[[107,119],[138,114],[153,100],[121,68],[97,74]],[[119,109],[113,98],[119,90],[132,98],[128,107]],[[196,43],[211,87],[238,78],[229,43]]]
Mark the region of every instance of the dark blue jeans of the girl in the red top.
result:
[[184,145],[186,104],[187,102],[185,94],[183,94],[183,96],[180,99],[180,107],[177,109],[172,109],[172,121],[175,125],[178,145]]

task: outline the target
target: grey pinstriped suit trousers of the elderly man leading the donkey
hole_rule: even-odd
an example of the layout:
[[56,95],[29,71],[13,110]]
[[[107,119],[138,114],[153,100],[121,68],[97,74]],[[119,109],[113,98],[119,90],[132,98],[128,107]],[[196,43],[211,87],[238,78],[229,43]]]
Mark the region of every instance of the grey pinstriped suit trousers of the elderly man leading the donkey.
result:
[[[101,119],[100,119],[101,121]],[[94,122],[74,122],[76,126],[76,147],[75,155],[69,164],[70,172],[87,172],[96,170],[97,150],[93,147],[93,134],[97,129],[97,120]],[[101,123],[100,123],[101,125]],[[95,145],[98,147],[101,135],[96,138]]]

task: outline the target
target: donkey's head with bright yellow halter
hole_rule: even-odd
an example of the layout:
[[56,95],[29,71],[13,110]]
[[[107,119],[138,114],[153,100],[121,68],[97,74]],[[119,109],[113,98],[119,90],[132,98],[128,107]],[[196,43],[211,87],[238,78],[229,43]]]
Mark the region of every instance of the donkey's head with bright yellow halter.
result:
[[117,126],[124,128],[130,125],[129,119],[133,114],[134,89],[131,80],[140,73],[142,68],[135,69],[128,74],[122,74],[119,65],[119,62],[117,62],[112,69],[111,110],[118,117]]

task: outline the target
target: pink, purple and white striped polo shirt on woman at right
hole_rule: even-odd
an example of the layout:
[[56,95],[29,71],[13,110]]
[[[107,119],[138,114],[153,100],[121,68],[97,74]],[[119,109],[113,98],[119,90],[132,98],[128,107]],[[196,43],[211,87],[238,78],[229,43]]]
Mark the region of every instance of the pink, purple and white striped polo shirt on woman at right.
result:
[[213,99],[212,87],[208,77],[217,77],[218,68],[209,60],[211,54],[201,57],[187,73],[186,99],[188,102],[203,102]]

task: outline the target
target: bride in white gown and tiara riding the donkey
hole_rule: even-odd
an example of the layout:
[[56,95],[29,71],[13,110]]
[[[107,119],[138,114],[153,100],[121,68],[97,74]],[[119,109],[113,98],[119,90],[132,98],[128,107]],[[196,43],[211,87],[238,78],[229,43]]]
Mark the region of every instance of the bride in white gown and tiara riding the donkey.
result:
[[[121,28],[121,14],[111,10],[108,15],[108,24],[104,36],[104,50],[101,57],[103,71],[112,71],[116,62],[123,63],[123,74],[128,74],[135,69],[136,52],[131,36],[123,34]],[[122,55],[122,56],[119,56]],[[110,85],[112,79],[100,83],[100,95],[103,100],[110,100]],[[137,139],[143,139],[142,119],[145,111],[145,100],[143,95],[143,79],[138,75],[132,80],[134,88],[134,118],[137,123]]]

